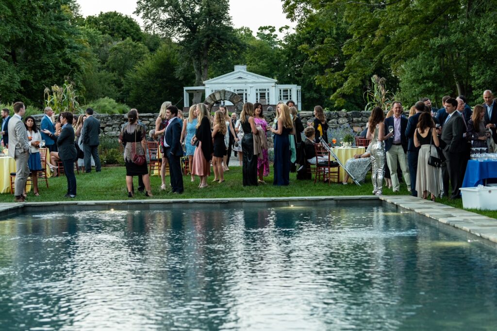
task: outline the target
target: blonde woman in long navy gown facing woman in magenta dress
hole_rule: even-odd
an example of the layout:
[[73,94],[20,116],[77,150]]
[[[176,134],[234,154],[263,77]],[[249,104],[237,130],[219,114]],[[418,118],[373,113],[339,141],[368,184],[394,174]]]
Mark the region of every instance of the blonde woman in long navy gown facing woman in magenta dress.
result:
[[273,185],[290,184],[290,139],[293,130],[293,121],[290,117],[288,106],[279,104],[279,116],[274,133],[274,180]]

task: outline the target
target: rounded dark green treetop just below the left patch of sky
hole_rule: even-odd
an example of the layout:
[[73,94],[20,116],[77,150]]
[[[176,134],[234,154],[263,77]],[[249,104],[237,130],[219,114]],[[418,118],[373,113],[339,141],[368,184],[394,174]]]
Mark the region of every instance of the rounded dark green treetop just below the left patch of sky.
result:
[[117,40],[131,38],[133,41],[141,41],[143,38],[140,25],[132,17],[117,11],[100,12],[98,16],[88,16],[85,24]]

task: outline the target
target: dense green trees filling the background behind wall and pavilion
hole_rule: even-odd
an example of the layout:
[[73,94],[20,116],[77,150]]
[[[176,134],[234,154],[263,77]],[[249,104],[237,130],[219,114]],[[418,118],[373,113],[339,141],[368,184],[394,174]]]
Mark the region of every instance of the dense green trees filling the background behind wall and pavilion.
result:
[[237,64],[301,85],[306,110],[364,109],[375,75],[405,104],[497,89],[497,0],[282,3],[295,31],[235,29],[228,0],[137,0],[144,29],[115,11],[83,18],[76,0],[0,1],[0,103],[40,109],[70,81],[81,108],[157,112]]

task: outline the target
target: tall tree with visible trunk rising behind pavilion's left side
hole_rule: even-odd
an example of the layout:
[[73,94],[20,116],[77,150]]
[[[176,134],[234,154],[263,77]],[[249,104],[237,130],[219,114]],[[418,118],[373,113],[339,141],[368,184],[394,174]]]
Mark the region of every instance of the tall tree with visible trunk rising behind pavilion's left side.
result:
[[[178,40],[191,59],[195,85],[201,86],[213,56],[219,56],[213,51],[235,41],[228,9],[228,0],[138,0],[136,12],[146,30]],[[195,93],[193,102],[200,101],[201,93]]]

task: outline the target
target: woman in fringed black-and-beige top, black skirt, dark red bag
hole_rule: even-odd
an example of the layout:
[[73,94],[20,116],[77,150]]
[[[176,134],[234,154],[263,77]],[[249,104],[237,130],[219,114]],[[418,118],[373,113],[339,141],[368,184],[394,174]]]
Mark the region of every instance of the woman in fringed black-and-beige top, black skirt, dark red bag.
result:
[[146,197],[152,197],[150,188],[150,177],[147,162],[138,165],[133,162],[135,155],[144,155],[147,150],[147,132],[142,125],[138,124],[138,112],[130,110],[128,113],[128,122],[119,134],[119,140],[125,145],[124,162],[126,164],[126,186],[128,187],[128,197],[133,197],[133,176],[142,176],[145,184]]

